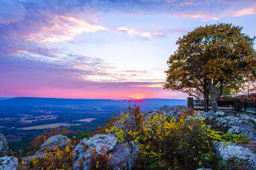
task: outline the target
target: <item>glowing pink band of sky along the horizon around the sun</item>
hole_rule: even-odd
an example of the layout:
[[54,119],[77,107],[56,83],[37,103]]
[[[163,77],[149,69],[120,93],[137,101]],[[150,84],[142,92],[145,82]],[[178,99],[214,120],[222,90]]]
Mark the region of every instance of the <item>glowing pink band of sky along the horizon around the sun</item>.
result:
[[[19,87],[19,89],[17,87]],[[122,88],[110,88],[110,85],[107,85],[105,88],[101,88],[100,86],[97,86],[97,84],[94,84],[94,86],[85,86],[84,88],[28,86],[28,84],[19,84],[19,86],[9,86],[8,88],[0,85],[0,89],[0,96],[112,99],[130,99],[136,98],[136,96],[140,96],[140,98],[187,98],[187,94],[167,91],[163,90],[163,88],[129,86],[123,86]]]

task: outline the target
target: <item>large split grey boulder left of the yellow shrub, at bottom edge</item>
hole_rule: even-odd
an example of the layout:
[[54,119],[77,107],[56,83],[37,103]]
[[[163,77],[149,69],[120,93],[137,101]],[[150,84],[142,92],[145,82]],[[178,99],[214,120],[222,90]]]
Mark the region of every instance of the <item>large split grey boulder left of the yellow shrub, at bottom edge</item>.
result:
[[110,154],[110,167],[117,170],[132,169],[138,154],[138,145],[134,142],[118,144],[114,135],[95,135],[81,140],[75,148],[74,170],[91,169],[93,163],[91,149],[94,149],[98,155],[103,152]]

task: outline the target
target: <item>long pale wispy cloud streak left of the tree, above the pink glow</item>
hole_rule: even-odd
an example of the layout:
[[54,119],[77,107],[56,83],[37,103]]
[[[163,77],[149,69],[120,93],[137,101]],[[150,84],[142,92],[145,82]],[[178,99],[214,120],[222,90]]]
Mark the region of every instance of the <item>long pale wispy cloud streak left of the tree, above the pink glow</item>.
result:
[[123,70],[116,64],[77,54],[54,54],[44,56],[22,52],[20,58],[40,62],[50,69],[65,70],[76,80],[92,82],[159,82],[159,72],[163,70]]

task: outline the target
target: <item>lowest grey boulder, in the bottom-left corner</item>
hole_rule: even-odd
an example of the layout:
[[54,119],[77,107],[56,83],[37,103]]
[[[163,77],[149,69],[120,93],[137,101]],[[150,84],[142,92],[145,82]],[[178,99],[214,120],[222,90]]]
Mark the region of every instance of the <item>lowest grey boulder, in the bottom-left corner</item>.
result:
[[15,157],[0,157],[0,170],[16,170],[17,163]]

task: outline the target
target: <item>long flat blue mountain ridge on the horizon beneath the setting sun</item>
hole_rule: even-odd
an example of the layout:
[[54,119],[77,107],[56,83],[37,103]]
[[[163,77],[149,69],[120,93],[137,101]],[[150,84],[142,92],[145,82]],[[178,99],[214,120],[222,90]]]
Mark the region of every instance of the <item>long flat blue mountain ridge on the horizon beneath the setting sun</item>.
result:
[[[130,103],[129,103],[130,101]],[[142,111],[153,110],[163,105],[187,105],[184,99],[166,99],[166,98],[146,98],[140,100],[112,100],[112,99],[67,99],[67,98],[32,98],[32,97],[15,97],[0,100],[0,108],[16,106],[61,106],[61,105],[87,105],[87,106],[141,106]]]

